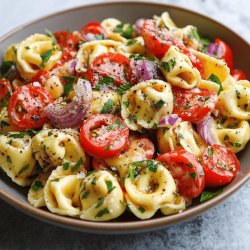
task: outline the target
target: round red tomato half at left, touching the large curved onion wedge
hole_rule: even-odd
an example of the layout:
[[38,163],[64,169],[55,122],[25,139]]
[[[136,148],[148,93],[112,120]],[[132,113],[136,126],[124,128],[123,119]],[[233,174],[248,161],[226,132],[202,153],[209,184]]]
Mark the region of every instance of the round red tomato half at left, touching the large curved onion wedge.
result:
[[10,121],[21,129],[40,128],[47,121],[44,109],[52,101],[49,92],[41,86],[20,86],[9,101]]

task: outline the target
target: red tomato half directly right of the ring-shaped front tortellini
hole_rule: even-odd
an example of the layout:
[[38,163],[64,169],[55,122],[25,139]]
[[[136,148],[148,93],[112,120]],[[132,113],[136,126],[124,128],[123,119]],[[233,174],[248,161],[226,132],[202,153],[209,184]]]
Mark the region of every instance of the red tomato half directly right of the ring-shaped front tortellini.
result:
[[178,193],[186,200],[200,195],[205,186],[201,164],[196,157],[185,150],[173,150],[156,158],[165,164],[177,183]]

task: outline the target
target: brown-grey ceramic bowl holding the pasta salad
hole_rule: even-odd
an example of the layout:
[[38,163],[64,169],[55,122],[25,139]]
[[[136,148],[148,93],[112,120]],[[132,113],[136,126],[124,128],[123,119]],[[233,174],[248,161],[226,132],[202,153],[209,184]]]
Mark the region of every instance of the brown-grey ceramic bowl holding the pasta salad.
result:
[[[224,25],[196,12],[176,7],[173,5],[148,2],[148,1],[123,1],[86,4],[81,7],[58,12],[43,18],[34,20],[22,25],[0,39],[0,55],[12,43],[23,40],[33,33],[44,32],[47,28],[56,30],[79,30],[90,21],[101,21],[107,17],[115,17],[125,22],[133,23],[141,17],[152,17],[168,11],[179,27],[192,24],[198,28],[200,33],[211,39],[220,37],[232,48],[235,56],[237,68],[245,70],[250,76],[250,46],[243,38]],[[240,57],[237,57],[240,55]],[[27,201],[27,188],[15,185],[9,178],[1,175],[0,177],[0,198],[17,209],[43,221],[53,223],[83,232],[123,234],[145,232],[165,228],[174,223],[190,219],[207,209],[219,204],[236,190],[238,190],[250,177],[250,145],[248,145],[238,157],[241,162],[241,170],[237,177],[227,186],[223,193],[208,200],[189,207],[179,214],[171,216],[156,216],[149,220],[139,221],[135,217],[122,216],[120,219],[110,222],[91,222],[63,217],[52,214],[47,210],[32,207]]]

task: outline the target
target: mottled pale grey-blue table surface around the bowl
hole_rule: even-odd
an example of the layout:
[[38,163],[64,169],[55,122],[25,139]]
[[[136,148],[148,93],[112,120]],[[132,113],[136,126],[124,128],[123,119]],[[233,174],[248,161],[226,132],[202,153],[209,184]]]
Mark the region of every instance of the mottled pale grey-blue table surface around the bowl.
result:
[[[0,36],[84,0],[0,0]],[[163,1],[161,1],[163,2]],[[250,41],[248,0],[164,1],[207,14]],[[0,249],[250,249],[250,183],[204,214],[165,230],[129,236],[90,235],[33,219],[0,201]]]

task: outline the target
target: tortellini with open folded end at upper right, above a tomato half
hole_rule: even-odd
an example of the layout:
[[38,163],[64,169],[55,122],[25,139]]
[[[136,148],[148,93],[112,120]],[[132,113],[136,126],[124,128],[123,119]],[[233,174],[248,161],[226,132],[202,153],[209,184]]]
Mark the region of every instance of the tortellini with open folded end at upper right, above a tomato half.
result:
[[162,58],[162,72],[169,83],[184,89],[197,86],[201,80],[187,55],[171,46]]

